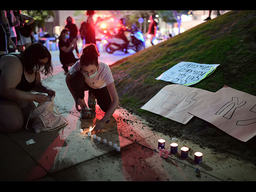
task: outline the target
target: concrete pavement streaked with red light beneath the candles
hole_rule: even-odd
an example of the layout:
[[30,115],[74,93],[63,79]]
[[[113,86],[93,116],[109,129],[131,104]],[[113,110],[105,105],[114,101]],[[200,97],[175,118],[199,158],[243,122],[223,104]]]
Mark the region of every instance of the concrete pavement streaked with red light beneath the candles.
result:
[[[255,181],[256,162],[242,154],[202,147],[188,141],[152,131],[145,119],[118,108],[102,132],[100,141],[88,136],[88,128],[104,113],[98,105],[92,119],[79,118],[74,100],[65,83],[58,51],[51,51],[54,76],[42,83],[56,91],[54,102],[68,120],[64,128],[52,132],[28,131],[0,134],[1,181]],[[122,53],[120,53],[121,55]],[[101,60],[112,64],[123,56],[101,53]],[[111,58],[108,58],[111,57]],[[120,58],[119,58],[120,57]],[[87,94],[87,93],[86,93]],[[86,97],[87,98],[87,97]],[[82,133],[80,128],[84,128]],[[104,144],[103,139],[112,142]],[[158,139],[178,143],[178,153],[160,156]],[[32,141],[32,142],[29,142]],[[120,147],[120,152],[113,148]],[[190,150],[181,158],[180,148]],[[202,163],[194,162],[194,152],[203,153]],[[200,174],[196,176],[195,168]]]

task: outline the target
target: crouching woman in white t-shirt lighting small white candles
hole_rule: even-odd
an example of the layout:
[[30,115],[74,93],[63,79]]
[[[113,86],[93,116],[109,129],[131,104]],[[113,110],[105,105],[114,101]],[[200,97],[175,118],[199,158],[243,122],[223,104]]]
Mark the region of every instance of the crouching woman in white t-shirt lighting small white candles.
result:
[[[105,112],[104,117],[94,126],[93,131],[101,131],[119,105],[116,86],[109,66],[98,61],[98,48],[95,44],[86,44],[78,60],[66,76],[66,84],[75,102],[76,110],[82,118],[92,118],[84,101],[84,91],[88,90],[88,106],[97,104]],[[81,107],[79,109],[79,106]]]

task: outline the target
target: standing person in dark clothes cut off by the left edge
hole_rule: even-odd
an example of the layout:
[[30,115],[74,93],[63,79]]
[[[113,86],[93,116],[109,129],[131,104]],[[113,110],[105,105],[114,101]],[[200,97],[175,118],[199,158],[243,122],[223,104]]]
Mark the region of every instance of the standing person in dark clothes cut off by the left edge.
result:
[[15,48],[15,44],[10,36],[9,22],[6,12],[0,10],[0,55],[8,52],[8,47]]

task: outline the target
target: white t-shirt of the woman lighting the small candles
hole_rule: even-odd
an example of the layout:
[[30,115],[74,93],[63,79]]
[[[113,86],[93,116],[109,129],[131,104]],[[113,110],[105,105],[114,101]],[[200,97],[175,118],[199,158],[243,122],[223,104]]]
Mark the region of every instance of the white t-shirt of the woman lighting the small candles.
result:
[[[69,74],[74,74],[75,72],[80,71],[80,60],[78,60],[69,70]],[[85,77],[85,76],[84,76]],[[114,82],[114,78],[112,76],[112,72],[110,67],[104,62],[99,62],[99,69],[96,76],[93,78],[84,78],[85,82],[94,89],[100,89],[105,86],[108,86],[112,82]]]

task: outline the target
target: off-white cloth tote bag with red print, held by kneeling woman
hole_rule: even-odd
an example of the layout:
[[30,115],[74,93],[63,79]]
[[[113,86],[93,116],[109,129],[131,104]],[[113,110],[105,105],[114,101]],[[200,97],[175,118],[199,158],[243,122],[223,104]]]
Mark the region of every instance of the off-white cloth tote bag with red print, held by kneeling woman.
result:
[[[54,107],[57,112],[54,110]],[[60,114],[54,104],[54,96],[51,98],[48,96],[46,102],[38,104],[38,106],[30,112],[28,121],[31,118],[35,118],[32,123],[32,129],[34,129],[36,133],[53,131],[68,125],[68,121]],[[26,129],[32,130],[27,128],[28,121],[26,123]]]

